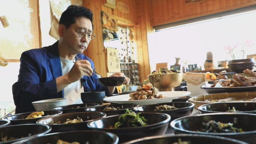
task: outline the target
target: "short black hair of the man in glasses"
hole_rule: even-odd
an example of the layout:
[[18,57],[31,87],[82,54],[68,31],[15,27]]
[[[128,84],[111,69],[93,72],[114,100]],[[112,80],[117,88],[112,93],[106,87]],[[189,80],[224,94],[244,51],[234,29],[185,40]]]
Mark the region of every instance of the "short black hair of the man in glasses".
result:
[[86,17],[93,24],[93,13],[91,10],[83,6],[70,5],[67,10],[61,14],[61,19],[59,24],[64,24],[65,26],[70,26],[75,23],[78,17]]

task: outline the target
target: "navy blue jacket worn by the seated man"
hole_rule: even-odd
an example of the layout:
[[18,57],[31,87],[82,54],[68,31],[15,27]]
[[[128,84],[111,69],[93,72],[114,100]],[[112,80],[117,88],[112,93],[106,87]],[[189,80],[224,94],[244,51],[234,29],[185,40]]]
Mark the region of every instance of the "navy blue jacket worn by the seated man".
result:
[[[81,59],[88,60],[94,69],[93,61],[84,54],[77,54]],[[55,78],[62,76],[59,58],[58,41],[52,46],[28,50],[20,57],[18,81],[13,84],[13,100],[16,113],[35,111],[33,101],[64,97],[63,90],[57,92]],[[97,76],[81,78],[84,91],[105,91]]]

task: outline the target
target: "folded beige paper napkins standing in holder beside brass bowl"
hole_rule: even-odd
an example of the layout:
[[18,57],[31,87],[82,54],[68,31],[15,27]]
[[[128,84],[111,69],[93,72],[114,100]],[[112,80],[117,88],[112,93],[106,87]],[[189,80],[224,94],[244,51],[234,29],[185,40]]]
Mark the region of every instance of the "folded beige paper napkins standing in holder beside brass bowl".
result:
[[187,81],[187,83],[198,85],[206,81],[206,76],[205,73],[186,72],[185,74],[183,74],[183,80]]

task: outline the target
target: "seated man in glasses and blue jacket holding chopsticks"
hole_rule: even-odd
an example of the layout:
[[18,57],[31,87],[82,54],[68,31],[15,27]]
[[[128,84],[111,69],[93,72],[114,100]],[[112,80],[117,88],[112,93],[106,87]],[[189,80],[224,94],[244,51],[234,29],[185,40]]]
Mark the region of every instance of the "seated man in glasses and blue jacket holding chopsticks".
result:
[[[82,103],[84,91],[105,91],[107,96],[115,87],[103,87],[97,81],[93,61],[83,53],[93,33],[93,14],[82,6],[71,5],[59,20],[59,40],[52,46],[22,53],[18,81],[13,84],[16,113],[35,111],[33,101],[67,98],[66,104]],[[114,73],[111,77],[124,76]],[[123,84],[129,84],[126,78]]]

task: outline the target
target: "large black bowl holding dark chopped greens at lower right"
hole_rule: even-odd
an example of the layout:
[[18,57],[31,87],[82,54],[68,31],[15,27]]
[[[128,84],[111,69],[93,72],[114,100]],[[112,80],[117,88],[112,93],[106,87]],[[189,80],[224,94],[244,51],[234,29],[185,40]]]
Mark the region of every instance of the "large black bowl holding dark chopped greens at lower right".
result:
[[[237,133],[207,133],[200,132],[202,123],[208,123],[210,120],[221,123],[233,123],[236,128],[242,128],[244,132]],[[221,137],[233,138],[246,143],[255,143],[256,136],[256,115],[247,113],[212,113],[199,114],[187,117],[177,118],[171,122],[171,128],[175,134],[206,134]]]

